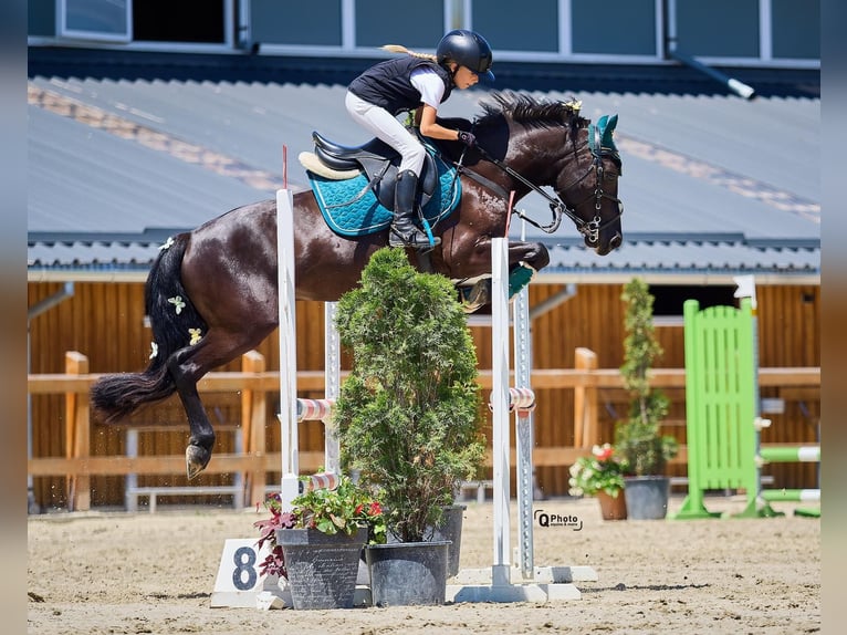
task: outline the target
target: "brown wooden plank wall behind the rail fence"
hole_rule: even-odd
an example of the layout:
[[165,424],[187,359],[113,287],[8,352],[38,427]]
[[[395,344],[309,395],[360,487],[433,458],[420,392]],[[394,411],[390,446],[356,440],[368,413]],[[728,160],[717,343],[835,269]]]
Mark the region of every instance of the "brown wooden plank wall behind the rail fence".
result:
[[[59,290],[56,283],[30,283],[29,305],[32,306]],[[530,305],[561,291],[561,285],[533,284]],[[574,351],[586,347],[594,351],[600,368],[617,368],[623,363],[623,321],[625,306],[618,284],[585,284],[575,296],[553,311],[538,316],[532,326],[533,367],[573,368]],[[819,304],[818,287],[760,287],[759,336],[760,365],[819,366]],[[317,302],[297,302],[297,366],[301,371],[322,371],[324,364],[324,311]],[[491,367],[491,333],[487,327],[472,329],[478,347],[480,368]],[[665,353],[656,367],[684,366],[682,326],[657,327]],[[140,371],[150,352],[150,330],[144,324],[144,288],[139,283],[76,283],[73,298],[35,318],[30,325],[32,372],[63,373],[64,355],[79,351],[90,360],[92,373]],[[259,352],[265,356],[269,371],[279,368],[276,334],[272,334]],[[345,357],[343,364],[349,365]],[[240,369],[236,360],[222,369]],[[672,400],[671,413],[663,428],[684,443],[684,391],[667,391]],[[763,443],[814,443],[819,421],[818,388],[763,388],[764,397],[785,399],[785,412],[771,415],[773,425],[764,430]],[[321,394],[301,394],[321,397]],[[611,441],[615,420],[627,414],[627,395],[620,389],[600,391],[600,436]],[[278,405],[269,400],[268,443],[271,451],[280,447]],[[240,396],[215,394],[205,397],[207,412],[217,426],[234,428],[240,421]],[[574,443],[574,394],[569,389],[537,391],[535,410],[536,447],[567,447]],[[485,409],[485,414],[488,410]],[[41,396],[32,398],[33,456],[64,455],[64,398]],[[174,431],[148,431],[140,435],[140,455],[181,455],[188,438],[188,427],[181,406],[176,398],[143,410],[134,423],[172,425]],[[490,430],[490,416],[485,424]],[[301,427],[301,447],[323,450],[323,429],[320,421]],[[275,448],[275,450],[274,450]],[[119,427],[95,424],[92,430],[93,455],[117,455],[125,451],[125,433]],[[218,435],[216,452],[234,451],[233,436]],[[684,476],[684,466],[671,466],[671,473]],[[786,488],[816,487],[814,464],[784,464],[766,468],[775,486]],[[201,485],[229,485],[230,475],[202,475]],[[269,473],[268,482],[276,482],[278,473]],[[537,469],[538,483],[548,496],[567,493],[567,466]],[[184,475],[139,477],[145,485],[185,485]],[[92,479],[94,506],[122,506],[123,477],[94,477]],[[63,478],[35,479],[35,499],[42,507],[64,507]],[[208,500],[208,499],[203,499]],[[169,499],[170,502],[170,499]]]

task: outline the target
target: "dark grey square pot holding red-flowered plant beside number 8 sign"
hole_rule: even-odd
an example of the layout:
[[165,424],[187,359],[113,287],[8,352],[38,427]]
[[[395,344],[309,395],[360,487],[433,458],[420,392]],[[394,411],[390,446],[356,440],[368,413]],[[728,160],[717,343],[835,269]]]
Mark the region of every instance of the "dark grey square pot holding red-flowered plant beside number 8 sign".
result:
[[367,528],[353,535],[278,529],[294,608],[352,608]]

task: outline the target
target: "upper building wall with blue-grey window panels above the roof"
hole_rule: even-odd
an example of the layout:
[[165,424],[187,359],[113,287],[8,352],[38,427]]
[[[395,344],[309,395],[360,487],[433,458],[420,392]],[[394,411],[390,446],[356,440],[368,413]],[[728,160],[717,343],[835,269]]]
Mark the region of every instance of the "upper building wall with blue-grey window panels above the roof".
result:
[[820,60],[819,0],[606,0],[602,9],[593,0],[185,0],[177,7],[148,0],[135,2],[123,20],[122,12],[128,7],[109,0],[66,0],[59,11],[51,0],[33,0],[28,33],[128,46],[163,42],[165,51],[191,43],[337,55],[373,53],[386,43],[432,50],[446,31],[472,28],[509,61],[661,62],[666,34],[680,52],[717,63]]

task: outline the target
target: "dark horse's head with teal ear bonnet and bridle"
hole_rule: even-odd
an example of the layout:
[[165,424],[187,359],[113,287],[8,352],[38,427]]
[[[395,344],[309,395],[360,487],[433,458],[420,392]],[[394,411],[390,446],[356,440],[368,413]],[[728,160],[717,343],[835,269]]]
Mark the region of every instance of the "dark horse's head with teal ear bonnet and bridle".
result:
[[[621,164],[611,138],[617,122],[617,115],[603,115],[596,124],[574,131],[576,160],[567,165],[576,165],[576,170],[562,170],[555,184],[556,195],[566,207],[564,212],[583,235],[586,247],[598,256],[606,256],[624,242],[624,204],[618,198]],[[583,136],[585,142],[577,142]]]

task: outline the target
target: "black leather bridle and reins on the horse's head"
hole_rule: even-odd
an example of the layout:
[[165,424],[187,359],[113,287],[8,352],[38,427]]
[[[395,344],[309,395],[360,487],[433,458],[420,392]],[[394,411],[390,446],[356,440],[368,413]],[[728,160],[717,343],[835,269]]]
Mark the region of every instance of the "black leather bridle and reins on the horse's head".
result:
[[[471,127],[473,129],[473,127]],[[586,145],[590,146],[592,156],[594,157],[592,160],[592,166],[576,180],[571,183],[567,187],[562,188],[561,190],[556,190],[556,195],[558,198],[554,198],[550,196],[546,191],[541,189],[537,185],[532,183],[530,179],[525,178],[521,174],[513,170],[511,167],[505,165],[503,162],[498,159],[496,157],[491,156],[483,147],[477,145],[475,149],[479,152],[482,157],[485,160],[491,162],[496,167],[499,167],[501,170],[503,170],[505,174],[511,176],[513,179],[519,180],[536,194],[544,197],[547,202],[550,204],[550,210],[553,214],[553,220],[548,225],[542,225],[537,222],[536,220],[530,218],[525,215],[522,210],[515,209],[514,214],[529,222],[530,225],[533,225],[544,231],[545,233],[553,233],[558,229],[558,226],[562,223],[562,217],[567,216],[576,226],[576,230],[585,237],[588,242],[596,243],[599,240],[600,231],[605,228],[607,228],[609,225],[616,222],[624,214],[624,204],[621,200],[615,196],[611,196],[607,191],[603,189],[603,179],[605,176],[605,168],[603,166],[603,159],[604,157],[610,157],[620,165],[620,157],[618,156],[617,152],[603,147],[600,143],[600,132],[595,125],[588,126],[588,140],[585,142],[583,145],[575,147],[574,153],[578,153],[583,147]],[[459,157],[459,160],[454,164],[457,167],[457,170],[468,175],[470,178],[474,179],[480,185],[483,185],[488,187],[489,189],[492,189],[496,192],[499,192],[503,198],[508,199],[509,194],[501,187],[500,185],[495,184],[489,178],[485,178],[484,176],[473,171],[472,169],[466,167],[462,165],[462,162],[464,159],[464,154],[467,153],[467,148],[462,152],[461,156]],[[594,194],[588,195],[586,198],[581,200],[576,206],[573,208],[565,205],[565,202],[562,200],[562,195],[566,192],[568,189],[579,185],[583,180],[585,180],[588,175],[594,173],[595,177],[595,185],[594,185]],[[576,209],[584,205],[588,199],[594,198],[594,210],[595,215],[592,220],[584,220],[579,218],[576,215]],[[617,204],[618,206],[618,212],[610,219],[603,222],[603,218],[600,217],[600,209],[603,208],[603,199],[608,199]]]

